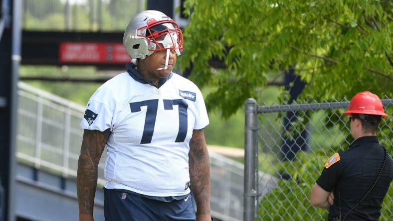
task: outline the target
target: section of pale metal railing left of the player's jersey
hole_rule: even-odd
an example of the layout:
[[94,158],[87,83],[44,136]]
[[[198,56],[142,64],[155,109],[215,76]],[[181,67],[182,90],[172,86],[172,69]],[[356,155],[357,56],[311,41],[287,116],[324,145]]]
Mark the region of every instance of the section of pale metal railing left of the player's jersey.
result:
[[[16,157],[36,169],[76,177],[84,108],[66,99],[18,83]],[[98,166],[98,184],[104,185],[104,151]]]

